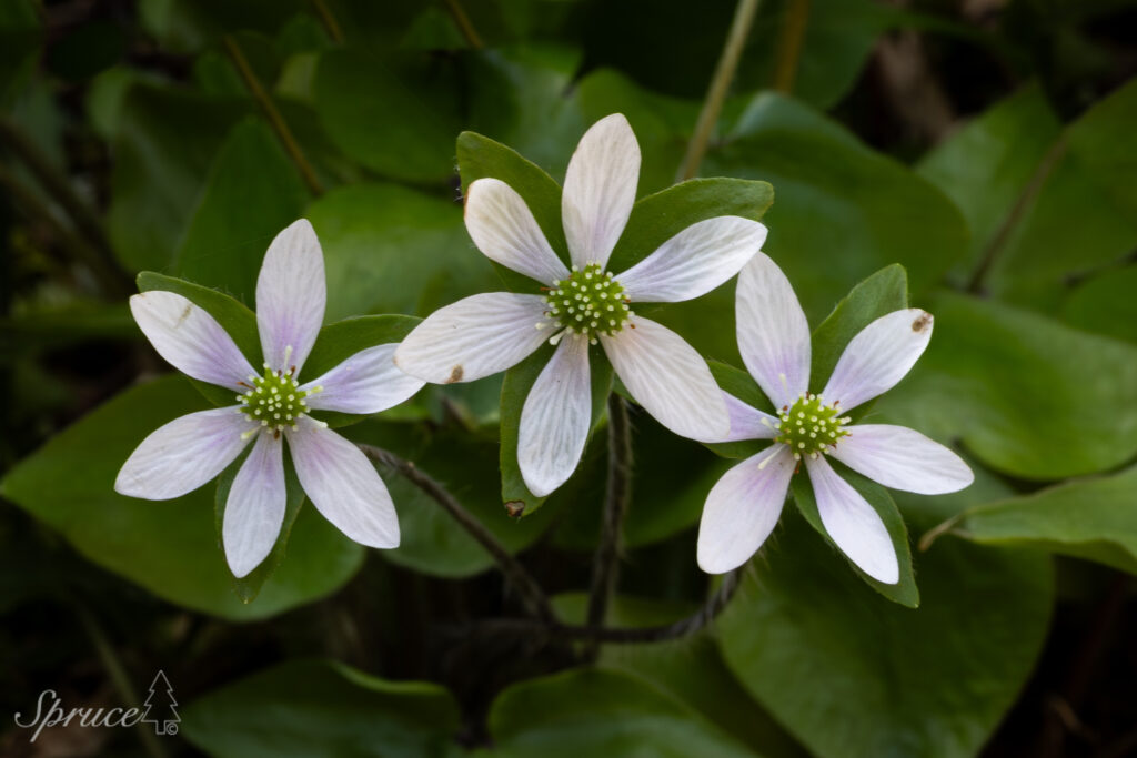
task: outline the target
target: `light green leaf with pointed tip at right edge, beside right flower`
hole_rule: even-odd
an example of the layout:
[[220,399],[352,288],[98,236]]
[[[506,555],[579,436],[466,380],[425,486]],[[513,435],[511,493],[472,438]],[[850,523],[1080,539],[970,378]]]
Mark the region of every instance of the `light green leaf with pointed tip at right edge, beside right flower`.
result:
[[978,506],[954,533],[1024,545],[1137,574],[1137,466]]

